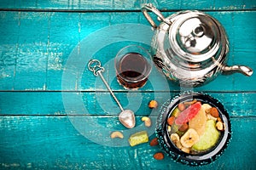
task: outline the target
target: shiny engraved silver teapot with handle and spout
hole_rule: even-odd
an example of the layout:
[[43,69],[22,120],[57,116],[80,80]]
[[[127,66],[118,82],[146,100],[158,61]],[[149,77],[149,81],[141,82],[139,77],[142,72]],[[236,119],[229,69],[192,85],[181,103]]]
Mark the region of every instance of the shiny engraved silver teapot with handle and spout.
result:
[[[148,11],[162,21],[160,26],[156,26]],[[229,41],[223,26],[212,16],[187,10],[165,18],[151,3],[143,4],[142,12],[154,28],[154,63],[180,86],[200,86],[219,73],[241,72],[247,77],[253,74],[247,66],[226,65]]]

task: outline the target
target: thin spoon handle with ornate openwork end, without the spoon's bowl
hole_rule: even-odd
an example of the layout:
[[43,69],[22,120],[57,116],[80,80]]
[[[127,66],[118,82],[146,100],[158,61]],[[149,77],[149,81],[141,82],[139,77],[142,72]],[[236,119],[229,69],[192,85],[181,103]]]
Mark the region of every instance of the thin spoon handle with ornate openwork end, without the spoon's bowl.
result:
[[119,108],[121,111],[124,111],[124,108],[122,107],[122,105],[119,103],[119,100],[115,97],[115,95],[113,94],[112,89],[108,86],[108,82],[105,80],[105,78],[102,76],[102,72],[105,70],[102,67],[102,64],[99,60],[97,59],[91,59],[90,62],[88,63],[88,68],[90,71],[92,71],[94,73],[94,75],[100,76],[102,78],[102,82],[104,82],[105,86],[108,88],[108,91],[110,92],[110,94],[112,95],[113,99],[115,100],[115,102],[117,103],[117,105],[119,105]]

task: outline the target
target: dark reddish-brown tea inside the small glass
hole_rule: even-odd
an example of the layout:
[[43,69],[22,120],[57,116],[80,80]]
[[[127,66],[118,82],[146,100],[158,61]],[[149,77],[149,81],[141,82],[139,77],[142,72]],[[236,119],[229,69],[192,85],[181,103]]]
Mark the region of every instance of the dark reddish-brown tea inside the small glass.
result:
[[125,54],[117,64],[117,79],[125,88],[141,88],[147,82],[151,68],[142,54]]

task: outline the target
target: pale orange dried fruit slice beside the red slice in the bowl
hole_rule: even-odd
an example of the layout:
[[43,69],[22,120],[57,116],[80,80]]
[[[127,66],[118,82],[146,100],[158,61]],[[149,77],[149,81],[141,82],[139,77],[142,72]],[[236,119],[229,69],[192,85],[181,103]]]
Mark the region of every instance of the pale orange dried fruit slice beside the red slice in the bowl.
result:
[[189,121],[189,128],[195,129],[199,136],[201,136],[206,129],[207,115],[204,109],[201,107],[200,111],[195,115],[193,119]]

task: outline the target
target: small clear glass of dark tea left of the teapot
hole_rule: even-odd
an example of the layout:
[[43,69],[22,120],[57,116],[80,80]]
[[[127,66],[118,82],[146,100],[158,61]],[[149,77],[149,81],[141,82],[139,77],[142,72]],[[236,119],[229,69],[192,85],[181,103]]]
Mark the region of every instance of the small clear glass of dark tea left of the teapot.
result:
[[119,50],[114,59],[114,66],[117,81],[124,88],[142,88],[152,69],[151,55],[141,46],[126,46]]

